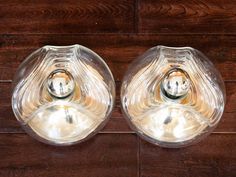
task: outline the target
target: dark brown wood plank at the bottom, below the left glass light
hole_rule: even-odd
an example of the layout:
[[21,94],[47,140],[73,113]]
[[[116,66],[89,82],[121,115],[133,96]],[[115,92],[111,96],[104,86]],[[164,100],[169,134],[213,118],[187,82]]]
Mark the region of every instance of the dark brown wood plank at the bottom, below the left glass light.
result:
[[99,134],[70,147],[45,145],[25,134],[0,134],[0,149],[0,176],[137,175],[137,139],[132,134]]

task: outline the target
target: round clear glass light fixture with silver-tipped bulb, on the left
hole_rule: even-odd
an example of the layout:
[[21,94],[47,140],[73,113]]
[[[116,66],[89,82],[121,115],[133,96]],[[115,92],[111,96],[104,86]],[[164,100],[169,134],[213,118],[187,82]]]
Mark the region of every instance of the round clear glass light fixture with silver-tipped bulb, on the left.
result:
[[108,120],[115,82],[108,66],[81,45],[44,46],[20,65],[12,108],[36,139],[70,145],[88,139]]

